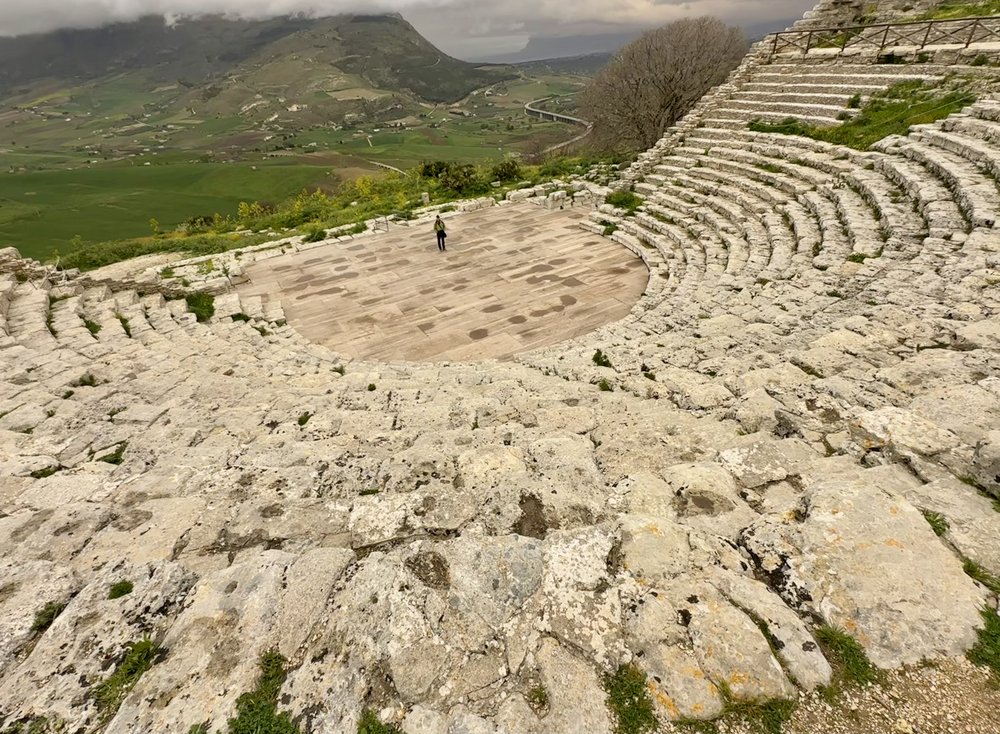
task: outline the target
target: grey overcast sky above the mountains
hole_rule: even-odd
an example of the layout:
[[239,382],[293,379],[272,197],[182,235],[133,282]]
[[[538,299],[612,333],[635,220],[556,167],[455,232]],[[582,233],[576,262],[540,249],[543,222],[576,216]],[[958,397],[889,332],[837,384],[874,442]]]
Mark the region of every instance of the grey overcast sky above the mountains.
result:
[[614,33],[685,15],[754,24],[800,15],[816,0],[0,0],[0,35],[84,28],[156,14],[261,18],[397,11],[444,51],[482,57],[517,51],[531,35]]

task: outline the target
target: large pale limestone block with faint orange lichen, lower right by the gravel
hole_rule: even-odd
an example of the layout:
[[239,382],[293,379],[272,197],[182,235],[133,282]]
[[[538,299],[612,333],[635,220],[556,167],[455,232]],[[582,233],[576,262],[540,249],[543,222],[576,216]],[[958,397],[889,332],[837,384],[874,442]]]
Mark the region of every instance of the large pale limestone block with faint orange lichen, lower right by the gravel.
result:
[[805,497],[805,519],[745,534],[787,603],[847,630],[880,666],[956,655],[973,643],[983,592],[891,478],[859,471],[816,479]]

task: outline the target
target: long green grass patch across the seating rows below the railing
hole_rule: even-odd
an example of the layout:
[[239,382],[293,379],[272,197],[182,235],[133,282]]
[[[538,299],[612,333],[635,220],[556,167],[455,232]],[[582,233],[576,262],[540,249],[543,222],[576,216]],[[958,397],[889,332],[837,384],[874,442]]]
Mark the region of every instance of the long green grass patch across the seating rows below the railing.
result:
[[975,101],[975,95],[967,89],[942,90],[924,86],[921,81],[900,82],[873,95],[855,117],[841,125],[819,127],[790,117],[778,123],[754,120],[749,128],[868,150],[888,135],[906,135],[911,125],[941,120]]

